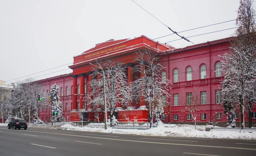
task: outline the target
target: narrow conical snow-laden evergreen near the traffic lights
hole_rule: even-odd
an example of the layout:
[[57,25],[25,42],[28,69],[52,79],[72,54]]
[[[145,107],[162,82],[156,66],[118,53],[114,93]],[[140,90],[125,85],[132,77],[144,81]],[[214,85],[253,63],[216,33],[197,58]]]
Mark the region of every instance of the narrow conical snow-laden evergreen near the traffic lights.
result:
[[[50,90],[50,99],[52,101],[52,121],[54,122],[64,121],[62,103],[58,93],[59,87],[56,84],[53,84]],[[53,115],[55,111],[58,111],[58,115]]]

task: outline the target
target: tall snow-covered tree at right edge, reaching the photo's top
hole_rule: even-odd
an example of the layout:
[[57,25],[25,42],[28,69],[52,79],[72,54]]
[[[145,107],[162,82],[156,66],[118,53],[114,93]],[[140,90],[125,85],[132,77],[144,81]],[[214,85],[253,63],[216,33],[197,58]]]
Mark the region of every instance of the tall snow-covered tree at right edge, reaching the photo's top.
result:
[[[230,84],[233,85],[233,97],[238,101],[242,128],[244,127],[244,111],[247,108],[249,109],[248,114],[250,114],[252,108],[245,105],[250,100],[255,99],[255,94],[252,94],[254,88],[250,86],[253,83],[255,84],[256,79],[256,27],[254,15],[253,1],[240,0],[236,19],[236,24],[239,26],[236,30],[237,37],[233,40],[231,51],[225,52],[221,56],[224,59],[221,63],[225,74],[232,75]],[[232,92],[228,94],[232,94]],[[232,99],[227,100],[231,101]],[[249,122],[249,125],[251,125],[251,119]]]

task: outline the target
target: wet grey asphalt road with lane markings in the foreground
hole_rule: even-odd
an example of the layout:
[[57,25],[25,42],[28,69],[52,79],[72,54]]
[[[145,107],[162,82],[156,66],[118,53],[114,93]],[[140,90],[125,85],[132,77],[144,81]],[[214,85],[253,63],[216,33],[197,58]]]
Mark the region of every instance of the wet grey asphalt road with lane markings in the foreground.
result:
[[255,156],[256,140],[0,127],[0,156]]

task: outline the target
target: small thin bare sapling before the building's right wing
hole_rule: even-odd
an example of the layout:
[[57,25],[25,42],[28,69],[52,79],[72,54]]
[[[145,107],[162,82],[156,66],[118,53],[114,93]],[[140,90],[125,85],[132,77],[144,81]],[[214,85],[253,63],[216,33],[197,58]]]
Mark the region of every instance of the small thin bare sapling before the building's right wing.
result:
[[196,129],[196,117],[199,111],[199,107],[201,105],[200,97],[197,93],[194,93],[194,95],[187,97],[186,99],[186,109],[191,114],[192,119],[195,122],[195,129]]

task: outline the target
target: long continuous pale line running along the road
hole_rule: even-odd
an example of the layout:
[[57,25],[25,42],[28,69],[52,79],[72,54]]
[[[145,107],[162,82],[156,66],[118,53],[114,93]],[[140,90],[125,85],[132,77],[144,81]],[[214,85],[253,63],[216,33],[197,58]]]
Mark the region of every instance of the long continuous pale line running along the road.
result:
[[[61,133],[49,133],[49,132],[38,132],[38,131],[30,131],[26,130],[26,132],[36,132],[36,133],[47,133],[47,134],[58,134],[63,136],[77,136],[72,134],[61,134]],[[170,145],[180,145],[180,146],[195,146],[195,147],[212,147],[212,148],[227,148],[227,149],[236,149],[236,150],[256,150],[254,148],[242,148],[242,147],[224,147],[224,146],[207,146],[207,145],[197,145],[197,144],[174,144],[174,143],[163,143],[163,142],[143,142],[143,141],[135,141],[135,140],[122,140],[122,139],[111,139],[111,138],[100,138],[100,137],[93,137],[93,136],[77,136],[77,137],[84,137],[84,138],[95,138],[95,139],[105,139],[105,140],[116,140],[116,141],[123,141],[123,142],[142,142],[142,143],[151,143],[151,144],[170,144]]]

